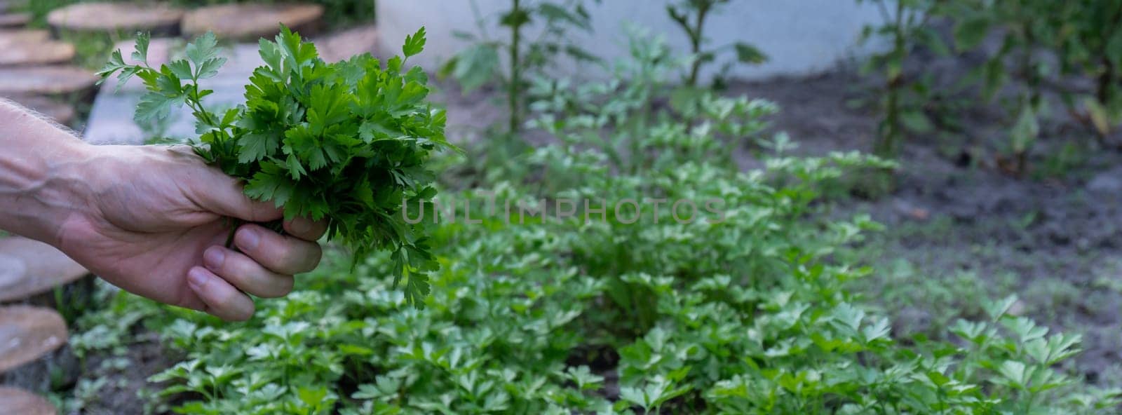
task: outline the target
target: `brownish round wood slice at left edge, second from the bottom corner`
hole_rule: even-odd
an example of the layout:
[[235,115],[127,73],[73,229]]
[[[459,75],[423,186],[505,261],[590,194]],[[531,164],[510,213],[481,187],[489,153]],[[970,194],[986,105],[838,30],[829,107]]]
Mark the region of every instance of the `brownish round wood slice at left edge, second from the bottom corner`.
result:
[[66,322],[46,307],[0,307],[0,372],[50,353],[66,343]]

